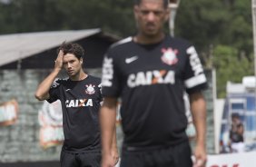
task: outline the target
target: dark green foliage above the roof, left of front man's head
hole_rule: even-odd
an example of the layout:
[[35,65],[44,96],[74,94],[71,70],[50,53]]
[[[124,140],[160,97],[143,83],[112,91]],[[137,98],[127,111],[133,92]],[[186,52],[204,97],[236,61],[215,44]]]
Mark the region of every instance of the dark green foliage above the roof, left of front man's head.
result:
[[133,1],[11,0],[0,4],[0,34],[102,28],[119,35],[135,31]]

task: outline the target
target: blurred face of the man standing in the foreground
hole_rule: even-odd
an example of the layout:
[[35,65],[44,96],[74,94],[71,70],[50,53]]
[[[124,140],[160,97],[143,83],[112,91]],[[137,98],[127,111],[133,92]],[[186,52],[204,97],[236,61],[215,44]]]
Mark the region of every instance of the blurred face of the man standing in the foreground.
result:
[[142,0],[133,9],[139,33],[155,36],[162,33],[162,26],[169,18],[169,10],[164,8],[163,0]]

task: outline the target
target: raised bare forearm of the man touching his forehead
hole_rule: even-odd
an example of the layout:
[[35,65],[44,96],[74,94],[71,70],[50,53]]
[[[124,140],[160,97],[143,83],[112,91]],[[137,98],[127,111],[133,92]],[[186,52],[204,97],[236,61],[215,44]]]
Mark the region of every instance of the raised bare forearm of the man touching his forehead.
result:
[[54,80],[59,74],[59,72],[60,69],[54,68],[54,71],[51,74],[49,74],[42,83],[39,84],[34,94],[36,99],[43,101],[49,98],[50,87],[52,83],[54,83]]

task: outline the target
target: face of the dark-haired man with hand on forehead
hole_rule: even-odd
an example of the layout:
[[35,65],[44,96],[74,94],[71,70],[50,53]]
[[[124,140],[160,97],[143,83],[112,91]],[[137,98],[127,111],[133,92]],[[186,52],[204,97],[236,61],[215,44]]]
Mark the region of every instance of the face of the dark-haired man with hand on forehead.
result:
[[64,69],[69,75],[73,77],[82,69],[83,60],[79,60],[74,54],[64,54],[63,64]]

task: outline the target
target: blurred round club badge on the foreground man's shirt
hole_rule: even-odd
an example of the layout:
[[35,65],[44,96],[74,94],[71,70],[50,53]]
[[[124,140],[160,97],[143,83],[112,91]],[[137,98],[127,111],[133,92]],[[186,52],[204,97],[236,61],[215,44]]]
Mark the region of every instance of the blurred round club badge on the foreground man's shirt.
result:
[[162,48],[162,62],[168,65],[176,64],[178,62],[177,54],[177,49],[172,49],[171,47],[167,49]]

